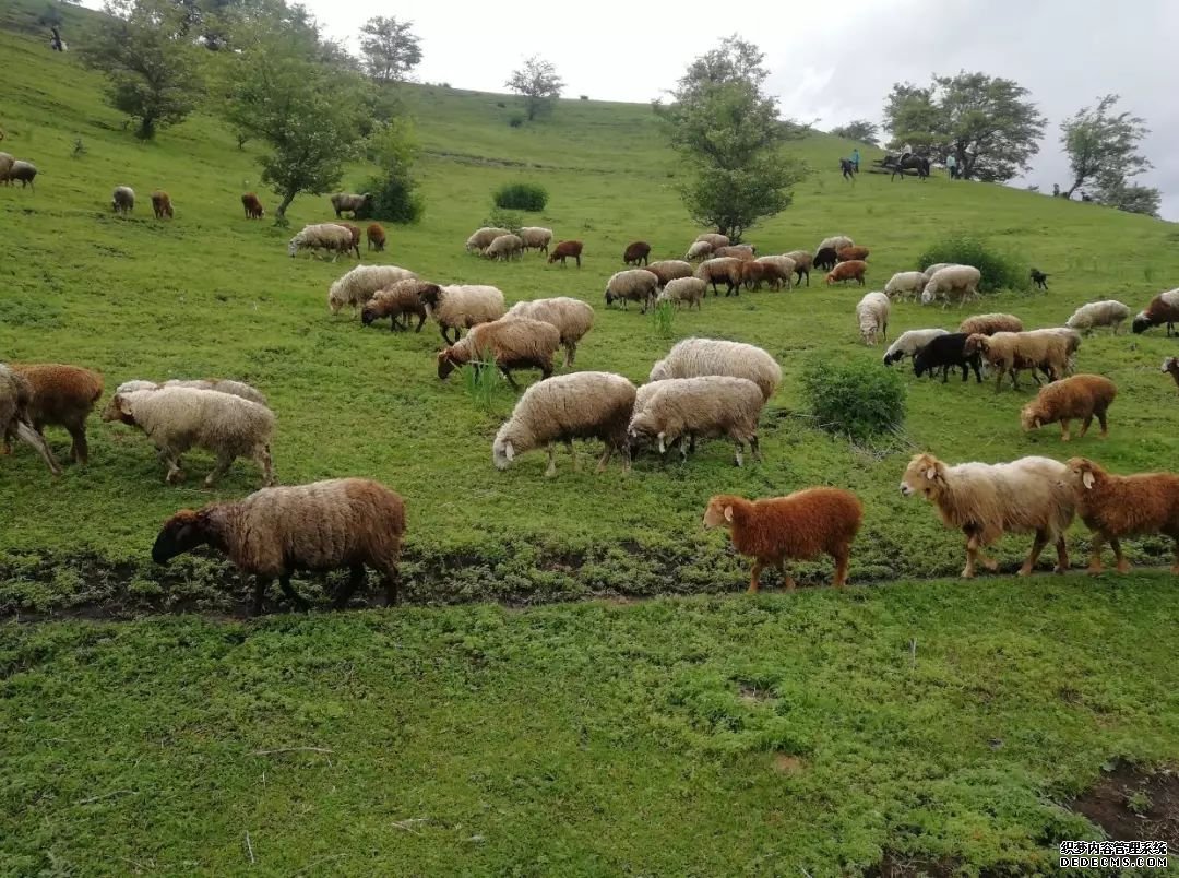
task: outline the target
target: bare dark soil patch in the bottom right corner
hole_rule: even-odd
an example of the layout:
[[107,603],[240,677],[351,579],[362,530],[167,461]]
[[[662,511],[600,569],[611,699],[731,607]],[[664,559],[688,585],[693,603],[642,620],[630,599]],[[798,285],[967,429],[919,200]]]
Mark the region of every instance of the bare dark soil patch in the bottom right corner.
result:
[[1179,774],[1173,769],[1146,772],[1118,762],[1068,807],[1113,840],[1166,841],[1171,850],[1179,845]]

